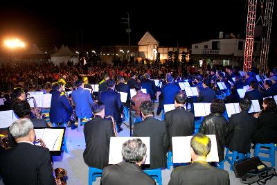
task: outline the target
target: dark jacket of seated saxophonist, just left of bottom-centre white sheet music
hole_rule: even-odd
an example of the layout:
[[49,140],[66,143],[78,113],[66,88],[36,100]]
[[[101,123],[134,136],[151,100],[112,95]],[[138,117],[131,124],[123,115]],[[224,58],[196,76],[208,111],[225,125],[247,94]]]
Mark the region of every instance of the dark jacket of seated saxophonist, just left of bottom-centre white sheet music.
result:
[[109,119],[95,116],[84,124],[84,162],[93,168],[104,168],[109,164],[109,140],[114,136],[114,129]]

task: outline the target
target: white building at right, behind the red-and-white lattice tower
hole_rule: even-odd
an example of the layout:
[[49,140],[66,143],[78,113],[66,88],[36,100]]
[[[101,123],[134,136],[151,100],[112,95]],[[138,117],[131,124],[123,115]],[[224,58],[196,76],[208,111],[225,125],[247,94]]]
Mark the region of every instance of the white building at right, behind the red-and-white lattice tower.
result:
[[[222,33],[220,34],[222,35]],[[232,35],[232,34],[231,34]],[[226,35],[225,38],[211,39],[206,42],[192,44],[191,58],[199,64],[220,64],[224,66],[243,67],[244,39]],[[260,42],[255,41],[253,46],[253,66],[260,62]]]

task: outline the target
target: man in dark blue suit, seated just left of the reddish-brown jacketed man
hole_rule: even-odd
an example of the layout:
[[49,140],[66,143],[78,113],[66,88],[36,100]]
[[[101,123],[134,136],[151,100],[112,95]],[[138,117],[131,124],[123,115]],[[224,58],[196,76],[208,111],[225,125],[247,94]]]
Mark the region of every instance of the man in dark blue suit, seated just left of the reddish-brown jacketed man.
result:
[[120,100],[120,94],[114,91],[116,87],[114,80],[107,80],[107,87],[108,89],[106,91],[101,92],[99,101],[106,107],[105,115],[114,117],[114,121],[116,121],[116,125],[118,126],[118,132],[120,132],[123,130],[121,128],[123,105]]

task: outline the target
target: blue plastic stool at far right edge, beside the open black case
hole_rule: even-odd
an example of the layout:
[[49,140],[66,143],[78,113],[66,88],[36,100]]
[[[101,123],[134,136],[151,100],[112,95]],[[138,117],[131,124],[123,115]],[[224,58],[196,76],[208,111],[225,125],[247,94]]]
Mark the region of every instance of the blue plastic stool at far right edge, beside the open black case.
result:
[[[267,148],[265,148],[267,147]],[[269,157],[260,156],[259,153],[267,154]],[[268,161],[271,163],[272,167],[275,167],[275,144],[260,144],[257,143],[255,147],[254,156],[260,157],[262,161]]]

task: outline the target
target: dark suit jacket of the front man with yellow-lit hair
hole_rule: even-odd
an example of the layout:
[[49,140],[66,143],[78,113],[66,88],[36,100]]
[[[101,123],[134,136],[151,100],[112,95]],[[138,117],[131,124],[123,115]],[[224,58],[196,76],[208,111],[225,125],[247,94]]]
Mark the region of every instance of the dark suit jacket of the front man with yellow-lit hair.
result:
[[206,161],[194,161],[188,166],[175,168],[168,185],[229,185],[229,173],[210,166]]

